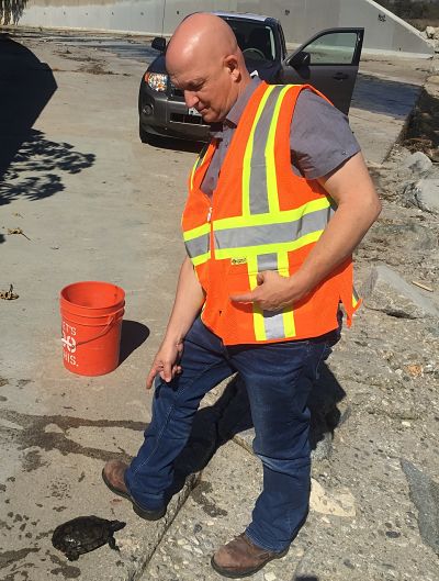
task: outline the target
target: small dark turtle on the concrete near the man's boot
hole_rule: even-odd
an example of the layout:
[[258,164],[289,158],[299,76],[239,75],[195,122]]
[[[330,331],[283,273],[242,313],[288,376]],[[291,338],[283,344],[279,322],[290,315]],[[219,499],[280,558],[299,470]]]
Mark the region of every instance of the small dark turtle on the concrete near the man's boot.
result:
[[113,533],[126,525],[121,521],[108,521],[99,516],[78,516],[57,526],[52,535],[52,545],[65,554],[69,561],[103,545],[119,550]]

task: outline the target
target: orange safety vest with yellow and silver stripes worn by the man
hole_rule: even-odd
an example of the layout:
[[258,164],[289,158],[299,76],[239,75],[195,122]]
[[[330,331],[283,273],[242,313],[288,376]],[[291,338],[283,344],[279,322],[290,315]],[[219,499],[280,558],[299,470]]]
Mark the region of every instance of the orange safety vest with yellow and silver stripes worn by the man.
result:
[[201,183],[215,139],[189,178],[183,238],[206,293],[201,319],[225,345],[316,337],[337,328],[340,301],[348,325],[360,303],[353,292],[350,257],[292,308],[264,312],[256,303],[229,299],[255,289],[263,270],[294,275],[334,213],[334,202],[319,183],[294,175],[291,168],[290,126],[303,88],[262,82],[255,90],[212,199],[202,192]]

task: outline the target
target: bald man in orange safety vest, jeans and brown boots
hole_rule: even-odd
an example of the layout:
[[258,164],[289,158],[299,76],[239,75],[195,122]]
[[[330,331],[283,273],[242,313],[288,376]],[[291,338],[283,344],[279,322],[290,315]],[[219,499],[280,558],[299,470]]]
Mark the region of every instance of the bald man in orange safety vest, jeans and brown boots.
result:
[[338,339],[340,301],[348,320],[358,306],[350,256],[381,206],[344,115],[311,88],[252,80],[219,18],[187,18],[166,64],[187,105],[222,126],[189,180],[189,256],[147,378],[151,423],[131,466],[112,460],[103,479],[138,515],[160,518],[201,399],[238,371],[263,490],[212,566],[245,577],[283,556],[306,518],[306,401]]

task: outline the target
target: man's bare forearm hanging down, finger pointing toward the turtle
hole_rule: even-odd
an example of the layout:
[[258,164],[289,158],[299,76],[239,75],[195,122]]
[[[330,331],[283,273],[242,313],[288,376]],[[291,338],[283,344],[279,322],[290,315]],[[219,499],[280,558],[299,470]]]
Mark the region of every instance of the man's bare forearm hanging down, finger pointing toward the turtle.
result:
[[185,258],[180,269],[176,300],[169,317],[165,338],[154,358],[146,379],[146,387],[153,386],[154,378],[160,373],[161,379],[170,381],[181,371],[179,366],[183,353],[183,338],[194,322],[204,302],[204,291],[196,278],[190,258]]

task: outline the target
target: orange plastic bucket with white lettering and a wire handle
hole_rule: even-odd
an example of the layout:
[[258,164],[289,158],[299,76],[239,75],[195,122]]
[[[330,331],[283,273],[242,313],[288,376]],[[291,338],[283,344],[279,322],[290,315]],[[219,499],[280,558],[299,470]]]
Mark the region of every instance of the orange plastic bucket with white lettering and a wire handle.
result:
[[59,298],[64,367],[103,376],[119,365],[125,292],[110,282],[68,284]]

